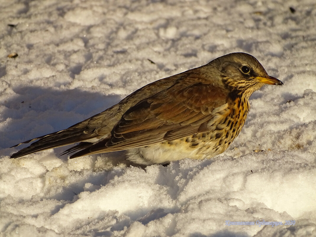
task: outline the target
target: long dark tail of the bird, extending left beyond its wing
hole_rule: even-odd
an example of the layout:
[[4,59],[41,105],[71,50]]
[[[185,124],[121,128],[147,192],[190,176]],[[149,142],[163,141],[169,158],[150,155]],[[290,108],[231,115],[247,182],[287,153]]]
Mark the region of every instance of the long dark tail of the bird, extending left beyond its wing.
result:
[[[20,151],[12,154],[10,158],[17,158],[37,151],[47,150],[60,146],[66,146],[73,143],[88,140],[94,137],[97,136],[92,136],[92,133],[85,133],[83,129],[66,129],[23,142],[29,143],[36,139],[40,139],[37,142],[32,143],[30,146],[23,148]],[[17,144],[13,147],[21,145],[23,143]]]

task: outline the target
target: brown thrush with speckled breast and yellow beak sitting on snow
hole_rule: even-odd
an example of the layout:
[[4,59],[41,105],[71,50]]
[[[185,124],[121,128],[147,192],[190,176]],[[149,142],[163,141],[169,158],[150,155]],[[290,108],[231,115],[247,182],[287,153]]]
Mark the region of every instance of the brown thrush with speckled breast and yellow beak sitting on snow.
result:
[[212,158],[238,136],[249,97],[265,84],[283,82],[252,55],[230,53],[152,82],[67,129],[19,143],[13,147],[37,140],[10,158],[75,143],[60,155],[72,159],[127,150],[129,161],[145,166]]

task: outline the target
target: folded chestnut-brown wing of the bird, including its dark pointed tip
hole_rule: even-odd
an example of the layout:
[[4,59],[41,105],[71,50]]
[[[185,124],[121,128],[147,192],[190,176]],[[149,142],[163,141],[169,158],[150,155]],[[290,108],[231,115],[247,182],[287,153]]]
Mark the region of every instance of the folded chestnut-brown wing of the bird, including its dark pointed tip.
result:
[[[194,81],[194,78],[186,78]],[[188,80],[186,80],[188,81]],[[143,147],[204,132],[214,108],[226,103],[227,93],[202,82],[177,83],[128,109],[108,137],[71,158]]]

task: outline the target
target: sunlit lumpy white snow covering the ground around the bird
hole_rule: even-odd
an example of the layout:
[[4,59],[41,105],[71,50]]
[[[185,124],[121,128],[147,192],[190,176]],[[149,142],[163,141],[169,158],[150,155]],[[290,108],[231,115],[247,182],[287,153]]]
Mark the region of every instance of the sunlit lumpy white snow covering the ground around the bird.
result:
[[[0,2],[0,236],[316,236],[314,0]],[[16,143],[230,52],[284,86],[252,95],[220,156],[145,168],[65,148],[9,159]]]

